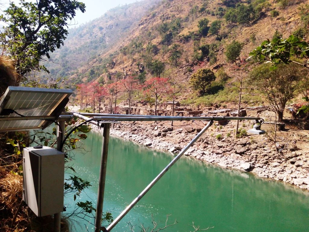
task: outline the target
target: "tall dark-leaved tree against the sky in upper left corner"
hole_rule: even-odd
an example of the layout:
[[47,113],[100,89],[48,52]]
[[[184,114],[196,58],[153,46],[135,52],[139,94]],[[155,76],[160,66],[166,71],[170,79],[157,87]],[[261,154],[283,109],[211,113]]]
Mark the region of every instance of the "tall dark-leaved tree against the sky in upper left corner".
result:
[[3,27],[2,54],[15,60],[15,70],[20,82],[33,70],[47,71],[40,65],[44,56],[63,45],[68,34],[64,26],[69,24],[76,10],[85,11],[85,4],[70,0],[20,1],[20,6],[10,2],[0,16]]

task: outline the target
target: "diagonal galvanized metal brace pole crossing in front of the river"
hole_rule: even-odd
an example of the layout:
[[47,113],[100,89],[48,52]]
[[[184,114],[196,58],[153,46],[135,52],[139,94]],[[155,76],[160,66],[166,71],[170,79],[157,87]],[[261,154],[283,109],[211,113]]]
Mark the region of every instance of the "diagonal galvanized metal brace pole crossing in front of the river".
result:
[[[181,152],[160,172],[159,175],[157,175],[156,178],[153,179],[153,181],[150,182],[150,184],[138,195],[137,198],[135,198],[127,208],[125,208],[124,211],[121,212],[121,214],[105,229],[105,231],[111,231],[114,226],[117,225],[117,223],[125,217],[125,215],[138,203],[139,200],[142,199],[142,197],[155,185],[155,183],[158,182],[158,180],[171,168],[173,164],[176,163],[176,161],[194,144],[196,140],[198,140],[201,135],[213,124],[213,121],[210,121],[207,123],[207,125],[191,140],[191,142],[181,150]],[[97,231],[99,232],[99,231]]]

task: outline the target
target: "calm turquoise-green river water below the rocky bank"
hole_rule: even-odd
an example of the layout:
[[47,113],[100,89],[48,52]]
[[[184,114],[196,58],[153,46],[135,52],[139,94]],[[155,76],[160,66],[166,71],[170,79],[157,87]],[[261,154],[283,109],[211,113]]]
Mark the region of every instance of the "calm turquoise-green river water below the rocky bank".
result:
[[[72,161],[77,175],[91,187],[77,201],[97,200],[102,134],[90,132]],[[172,160],[173,155],[111,137],[107,163],[104,212],[114,218]],[[68,175],[68,174],[66,174]],[[65,197],[69,213],[73,197]],[[253,174],[223,169],[181,157],[127,216],[112,230],[131,231],[128,222],[151,226],[151,215],[159,226],[178,223],[163,231],[193,231],[192,222],[207,231],[309,231],[309,194],[290,185],[256,178]],[[93,223],[93,221],[91,221]],[[91,223],[74,218],[71,231],[93,231]]]

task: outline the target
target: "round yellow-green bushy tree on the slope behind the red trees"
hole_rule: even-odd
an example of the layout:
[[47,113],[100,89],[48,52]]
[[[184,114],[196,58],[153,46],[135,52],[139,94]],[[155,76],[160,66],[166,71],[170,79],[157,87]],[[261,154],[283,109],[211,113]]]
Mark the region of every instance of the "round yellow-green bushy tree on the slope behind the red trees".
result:
[[196,90],[201,90],[201,94],[205,94],[206,88],[216,79],[214,72],[210,69],[201,68],[193,73],[190,77],[190,84]]

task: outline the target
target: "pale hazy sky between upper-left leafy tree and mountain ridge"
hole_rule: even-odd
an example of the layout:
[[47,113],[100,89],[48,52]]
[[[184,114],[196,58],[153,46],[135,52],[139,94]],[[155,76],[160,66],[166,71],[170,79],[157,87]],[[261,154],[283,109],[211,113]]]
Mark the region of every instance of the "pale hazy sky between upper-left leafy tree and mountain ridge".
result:
[[92,19],[98,18],[103,15],[106,11],[116,6],[125,5],[126,3],[139,2],[137,0],[79,0],[80,2],[85,3],[86,12],[82,13],[80,11],[77,12],[74,17],[75,23],[78,26],[80,24],[89,22]]

